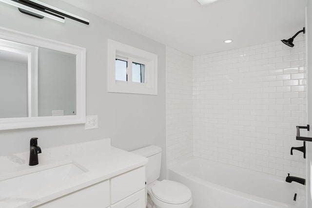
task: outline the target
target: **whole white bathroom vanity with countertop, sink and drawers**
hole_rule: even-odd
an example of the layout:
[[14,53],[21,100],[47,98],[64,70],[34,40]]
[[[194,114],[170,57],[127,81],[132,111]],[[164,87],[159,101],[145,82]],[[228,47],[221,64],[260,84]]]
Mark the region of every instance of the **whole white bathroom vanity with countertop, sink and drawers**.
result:
[[[0,157],[0,208],[144,208],[147,158],[101,139]],[[3,164],[3,165],[2,165]]]

